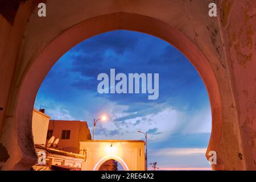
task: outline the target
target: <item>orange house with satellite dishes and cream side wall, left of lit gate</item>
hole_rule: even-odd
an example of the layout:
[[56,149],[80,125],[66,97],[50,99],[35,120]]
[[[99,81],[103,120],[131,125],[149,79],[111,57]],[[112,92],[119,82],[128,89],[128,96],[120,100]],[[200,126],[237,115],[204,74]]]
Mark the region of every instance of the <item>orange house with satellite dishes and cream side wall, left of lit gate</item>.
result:
[[[49,121],[49,119],[50,117],[44,113],[44,109],[39,111],[33,109],[32,134],[36,154],[38,155],[38,164],[33,166],[31,170],[81,170],[82,163],[86,160],[86,153],[78,154],[79,142],[90,139],[87,123],[81,121]],[[55,141],[59,138],[59,142],[56,145],[48,143],[49,138],[55,134]]]

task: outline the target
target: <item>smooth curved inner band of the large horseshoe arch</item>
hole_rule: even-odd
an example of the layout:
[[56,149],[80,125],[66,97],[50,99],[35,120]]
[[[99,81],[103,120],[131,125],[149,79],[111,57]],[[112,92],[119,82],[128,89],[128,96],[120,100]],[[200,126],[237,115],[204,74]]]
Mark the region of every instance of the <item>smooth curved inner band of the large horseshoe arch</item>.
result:
[[[181,31],[170,24],[149,16],[131,13],[113,13],[86,19],[56,36],[32,61],[24,74],[15,105],[15,125],[23,163],[32,166],[36,155],[32,142],[32,109],[40,84],[53,64],[76,44],[94,35],[113,30],[130,30],[156,36],[179,49],[199,72],[208,90],[212,110],[212,133],[208,151],[217,151],[221,137],[222,104],[216,76],[207,57]],[[30,166],[27,165],[27,166]]]

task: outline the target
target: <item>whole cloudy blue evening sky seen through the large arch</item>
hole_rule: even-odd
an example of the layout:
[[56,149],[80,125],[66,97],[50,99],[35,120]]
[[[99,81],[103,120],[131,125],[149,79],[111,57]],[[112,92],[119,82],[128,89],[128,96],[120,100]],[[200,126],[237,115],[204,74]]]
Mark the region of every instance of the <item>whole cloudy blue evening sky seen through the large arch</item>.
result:
[[[159,98],[148,94],[100,94],[100,73],[159,73]],[[161,169],[208,168],[205,158],[211,113],[199,74],[176,48],[147,34],[112,31],[94,36],[65,53],[40,86],[35,108],[52,119],[87,121],[96,139],[143,139],[148,162]]]

